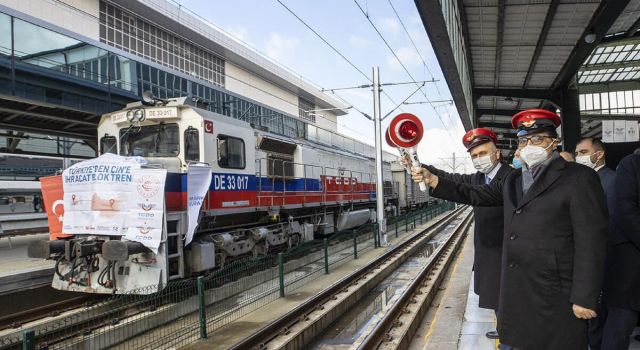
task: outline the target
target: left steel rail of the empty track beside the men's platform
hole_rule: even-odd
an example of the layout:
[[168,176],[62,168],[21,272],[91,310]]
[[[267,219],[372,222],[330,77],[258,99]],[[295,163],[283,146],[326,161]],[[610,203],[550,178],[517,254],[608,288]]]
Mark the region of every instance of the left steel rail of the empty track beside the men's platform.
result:
[[389,260],[394,255],[398,254],[398,252],[400,252],[404,248],[410,246],[412,243],[421,239],[422,238],[421,233],[444,227],[445,225],[453,221],[455,218],[457,218],[466,208],[467,206],[458,208],[453,212],[451,212],[450,214],[448,214],[447,216],[440,218],[438,221],[436,221],[435,223],[425,228],[422,232],[415,234],[413,237],[400,243],[394,249],[385,252],[384,254],[380,255],[379,257],[369,262],[364,267],[349,274],[348,276],[345,276],[344,278],[332,284],[322,292],[307,299],[302,304],[298,305],[297,307],[287,312],[283,316],[279,317],[278,319],[274,320],[273,322],[270,322],[269,324],[265,325],[264,327],[262,327],[252,335],[248,336],[247,338],[234,344],[229,349],[246,350],[246,349],[266,348],[266,345],[265,345],[266,343],[276,338],[278,335],[282,334],[283,332],[286,332],[293,324],[297,323],[300,320],[304,320],[306,318],[306,315],[310,314],[316,308],[324,304],[326,301],[330,300],[335,294],[338,294],[340,291],[344,290],[349,285],[360,280],[362,276],[365,276],[369,272],[375,270],[378,266],[383,264],[385,261]]

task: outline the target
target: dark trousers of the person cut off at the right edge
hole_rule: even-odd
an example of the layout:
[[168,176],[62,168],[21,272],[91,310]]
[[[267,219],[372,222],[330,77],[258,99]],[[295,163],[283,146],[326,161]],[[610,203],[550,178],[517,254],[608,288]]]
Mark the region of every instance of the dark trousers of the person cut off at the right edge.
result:
[[629,348],[629,337],[638,323],[639,311],[608,307],[607,321],[602,335],[602,350]]

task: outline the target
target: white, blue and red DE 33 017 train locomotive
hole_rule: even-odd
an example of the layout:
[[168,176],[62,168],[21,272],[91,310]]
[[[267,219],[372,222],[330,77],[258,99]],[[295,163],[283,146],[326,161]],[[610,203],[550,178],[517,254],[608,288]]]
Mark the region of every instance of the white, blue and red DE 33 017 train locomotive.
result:
[[[234,259],[285,251],[376,217],[373,150],[346,147],[357,143],[353,139],[338,147],[308,135],[283,136],[181,97],[134,102],[104,115],[98,140],[100,154],[141,156],[148,166],[167,170],[161,244],[154,253],[115,236],[36,242],[29,255],[56,260],[56,289],[153,293],[171,280],[207,273]],[[404,169],[392,169],[396,158],[383,156],[388,216],[429,201],[426,194],[412,195],[418,191],[410,177],[399,174]],[[212,181],[194,240],[185,245],[190,164],[210,167]]]

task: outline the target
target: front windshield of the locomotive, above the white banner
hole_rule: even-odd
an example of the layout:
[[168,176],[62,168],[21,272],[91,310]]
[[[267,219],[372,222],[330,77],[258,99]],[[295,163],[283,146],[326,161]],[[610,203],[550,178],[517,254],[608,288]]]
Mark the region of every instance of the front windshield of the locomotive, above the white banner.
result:
[[120,129],[120,155],[175,157],[180,153],[178,124],[158,124]]

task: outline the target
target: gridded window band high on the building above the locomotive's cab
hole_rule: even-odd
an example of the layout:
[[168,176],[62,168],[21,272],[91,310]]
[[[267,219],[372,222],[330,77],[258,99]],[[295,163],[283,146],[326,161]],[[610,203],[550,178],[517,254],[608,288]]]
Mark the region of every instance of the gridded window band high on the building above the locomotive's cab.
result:
[[224,86],[224,60],[116,6],[100,2],[100,41]]

